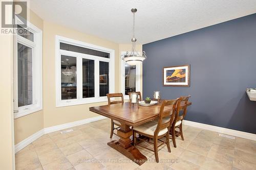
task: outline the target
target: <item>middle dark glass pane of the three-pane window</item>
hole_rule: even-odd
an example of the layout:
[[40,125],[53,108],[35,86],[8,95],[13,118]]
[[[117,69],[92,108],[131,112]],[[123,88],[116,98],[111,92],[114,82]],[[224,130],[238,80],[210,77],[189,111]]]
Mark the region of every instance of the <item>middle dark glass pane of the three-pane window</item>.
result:
[[82,59],[82,98],[94,97],[94,60]]

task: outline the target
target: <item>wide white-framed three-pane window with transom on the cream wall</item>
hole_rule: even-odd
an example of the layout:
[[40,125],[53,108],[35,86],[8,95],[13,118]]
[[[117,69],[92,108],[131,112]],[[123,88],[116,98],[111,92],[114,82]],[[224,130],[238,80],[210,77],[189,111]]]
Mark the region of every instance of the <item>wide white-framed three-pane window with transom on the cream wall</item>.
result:
[[56,36],[56,106],[107,101],[114,92],[115,51]]

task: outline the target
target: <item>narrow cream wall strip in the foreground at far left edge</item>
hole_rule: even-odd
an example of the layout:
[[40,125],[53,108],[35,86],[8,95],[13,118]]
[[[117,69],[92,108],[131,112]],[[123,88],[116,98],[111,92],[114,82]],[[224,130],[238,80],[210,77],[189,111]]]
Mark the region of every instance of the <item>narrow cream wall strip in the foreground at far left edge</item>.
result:
[[13,169],[12,36],[0,35],[0,169]]

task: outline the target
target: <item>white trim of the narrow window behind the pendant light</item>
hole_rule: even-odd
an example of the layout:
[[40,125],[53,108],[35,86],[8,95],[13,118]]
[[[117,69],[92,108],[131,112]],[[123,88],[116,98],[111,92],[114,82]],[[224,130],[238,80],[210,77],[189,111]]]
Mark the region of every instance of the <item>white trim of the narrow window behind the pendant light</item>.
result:
[[[130,52],[129,52],[130,53]],[[125,55],[126,52],[121,52],[121,55]],[[140,91],[140,81],[141,81],[141,68],[142,68],[142,63],[136,65],[136,91]],[[123,93],[123,98],[124,100],[129,100],[129,95],[125,95],[125,61],[123,61],[120,58],[120,81],[121,81],[121,92]]]

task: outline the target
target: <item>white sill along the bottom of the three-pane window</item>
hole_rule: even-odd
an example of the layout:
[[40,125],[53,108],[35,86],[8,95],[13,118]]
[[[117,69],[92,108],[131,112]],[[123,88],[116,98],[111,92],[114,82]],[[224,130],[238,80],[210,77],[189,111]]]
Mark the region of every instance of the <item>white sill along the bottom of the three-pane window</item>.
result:
[[99,103],[99,102],[108,102],[108,98],[106,96],[100,98],[86,98],[82,100],[65,100],[56,103],[56,107],[66,107],[66,106],[75,106],[75,105],[84,105],[90,103]]

